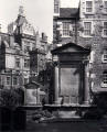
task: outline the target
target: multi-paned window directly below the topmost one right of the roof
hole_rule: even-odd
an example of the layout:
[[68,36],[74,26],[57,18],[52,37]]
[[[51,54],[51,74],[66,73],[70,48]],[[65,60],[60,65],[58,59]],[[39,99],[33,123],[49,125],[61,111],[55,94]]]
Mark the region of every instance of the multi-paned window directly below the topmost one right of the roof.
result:
[[84,35],[92,34],[92,22],[84,22]]

